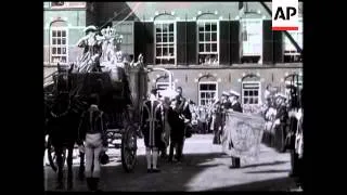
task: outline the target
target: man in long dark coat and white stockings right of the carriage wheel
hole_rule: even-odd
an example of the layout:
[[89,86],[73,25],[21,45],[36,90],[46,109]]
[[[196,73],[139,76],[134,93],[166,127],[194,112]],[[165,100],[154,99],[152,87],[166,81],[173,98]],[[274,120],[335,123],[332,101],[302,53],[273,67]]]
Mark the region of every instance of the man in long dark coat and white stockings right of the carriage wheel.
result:
[[157,168],[158,148],[162,146],[163,104],[156,99],[157,89],[142,106],[141,129],[144,135],[147,172],[160,172]]

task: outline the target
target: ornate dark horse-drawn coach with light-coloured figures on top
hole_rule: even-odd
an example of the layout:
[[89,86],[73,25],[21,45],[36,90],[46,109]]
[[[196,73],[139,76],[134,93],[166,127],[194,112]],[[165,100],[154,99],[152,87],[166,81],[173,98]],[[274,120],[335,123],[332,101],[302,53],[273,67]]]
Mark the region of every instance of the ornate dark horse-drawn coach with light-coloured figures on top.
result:
[[[139,107],[146,94],[147,76],[143,67],[142,55],[139,56],[137,63],[124,62],[125,57],[117,46],[121,41],[121,36],[116,35],[115,30],[110,27],[102,30],[95,27],[86,29],[88,35],[78,42],[78,46],[85,51],[77,64],[72,64],[67,68],[57,66],[57,72],[49,76],[52,78],[51,81],[43,84],[44,125],[48,127],[50,118],[67,115],[70,134],[66,133],[65,136],[72,136],[73,145],[75,145],[79,122],[77,116],[87,109],[88,96],[98,93],[100,108],[108,119],[108,145],[120,148],[123,167],[129,172],[133,170],[137,161],[137,136],[140,118],[138,110],[140,110]],[[68,104],[56,114],[53,107],[60,104],[59,96],[62,94],[68,96]],[[49,135],[47,142],[48,159],[52,169],[56,171],[57,165],[50,132],[49,130],[46,133]],[[121,140],[121,143],[115,143],[115,140]],[[63,141],[64,139],[62,139]],[[65,152],[62,154],[64,161],[66,158],[68,160],[65,154]],[[83,157],[80,156],[80,159],[82,166]]]

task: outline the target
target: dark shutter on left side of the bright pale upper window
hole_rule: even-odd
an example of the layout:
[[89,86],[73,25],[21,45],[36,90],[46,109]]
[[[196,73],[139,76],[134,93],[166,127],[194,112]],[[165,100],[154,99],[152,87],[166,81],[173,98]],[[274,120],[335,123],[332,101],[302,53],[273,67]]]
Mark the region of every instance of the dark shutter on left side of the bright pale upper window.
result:
[[240,36],[240,22],[230,22],[230,56],[231,63],[239,64],[241,58],[241,36]]

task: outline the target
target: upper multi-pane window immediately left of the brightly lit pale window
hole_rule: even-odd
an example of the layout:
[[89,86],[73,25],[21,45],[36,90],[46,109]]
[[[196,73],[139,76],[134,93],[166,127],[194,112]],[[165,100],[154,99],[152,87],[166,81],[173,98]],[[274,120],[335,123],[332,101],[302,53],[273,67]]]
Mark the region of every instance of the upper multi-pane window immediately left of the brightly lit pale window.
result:
[[218,22],[197,22],[198,64],[218,64]]

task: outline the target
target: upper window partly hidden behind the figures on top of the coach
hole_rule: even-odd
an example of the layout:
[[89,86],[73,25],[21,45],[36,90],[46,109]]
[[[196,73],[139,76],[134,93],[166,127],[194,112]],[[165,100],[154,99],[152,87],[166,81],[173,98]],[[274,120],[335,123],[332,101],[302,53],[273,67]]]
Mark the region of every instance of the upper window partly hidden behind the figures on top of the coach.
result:
[[124,54],[133,58],[133,22],[116,22],[116,32],[123,36],[120,50]]

